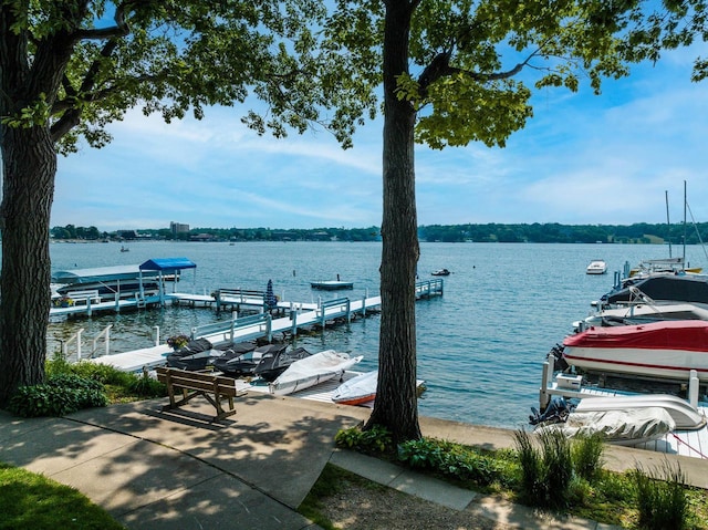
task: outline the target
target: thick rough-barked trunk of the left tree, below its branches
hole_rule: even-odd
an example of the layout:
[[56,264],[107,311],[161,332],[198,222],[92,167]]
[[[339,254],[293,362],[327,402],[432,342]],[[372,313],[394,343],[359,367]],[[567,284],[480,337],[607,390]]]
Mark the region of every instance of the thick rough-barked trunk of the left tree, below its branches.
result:
[[56,153],[45,127],[1,126],[0,406],[44,378]]

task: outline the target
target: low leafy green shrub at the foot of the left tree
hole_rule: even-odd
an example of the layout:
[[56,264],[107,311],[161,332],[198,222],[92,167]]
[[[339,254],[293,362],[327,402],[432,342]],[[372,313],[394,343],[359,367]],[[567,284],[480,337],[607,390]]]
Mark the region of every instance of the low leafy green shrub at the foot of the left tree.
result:
[[107,404],[101,383],[59,373],[42,385],[19,387],[10,398],[8,411],[22,417],[65,416],[82,408],[105,407]]

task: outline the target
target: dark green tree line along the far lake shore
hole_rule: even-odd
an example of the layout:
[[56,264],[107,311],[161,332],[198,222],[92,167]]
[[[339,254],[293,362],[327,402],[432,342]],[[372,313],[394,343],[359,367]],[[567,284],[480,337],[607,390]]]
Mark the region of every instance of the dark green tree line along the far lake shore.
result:
[[[368,228],[194,228],[173,233],[168,228],[144,230],[101,231],[96,227],[66,225],[51,229],[53,239],[86,241],[140,239],[183,241],[379,241],[381,229]],[[535,242],[535,243],[623,243],[652,245],[701,243],[708,239],[708,224],[690,229],[683,225],[560,225],[560,224],[486,224],[428,225],[418,228],[418,239],[425,242]]]

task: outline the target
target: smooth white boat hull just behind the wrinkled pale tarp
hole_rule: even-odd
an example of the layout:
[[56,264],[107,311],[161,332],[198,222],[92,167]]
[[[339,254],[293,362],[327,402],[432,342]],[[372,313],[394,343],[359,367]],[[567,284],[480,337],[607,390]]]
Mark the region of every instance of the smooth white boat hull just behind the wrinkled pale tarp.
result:
[[690,404],[670,394],[584,397],[575,406],[576,413],[624,411],[626,408],[664,408],[680,430],[697,430],[706,425],[706,417]]

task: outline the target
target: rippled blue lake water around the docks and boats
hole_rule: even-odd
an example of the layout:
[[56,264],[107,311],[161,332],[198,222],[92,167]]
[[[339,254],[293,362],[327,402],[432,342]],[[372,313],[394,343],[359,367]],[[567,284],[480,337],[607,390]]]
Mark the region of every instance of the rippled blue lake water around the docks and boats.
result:
[[[53,243],[52,270],[142,263],[152,258],[186,257],[197,269],[183,272],[180,292],[209,293],[218,288],[264,290],[272,279],[275,293],[294,302],[378,292],[381,243],[344,242],[132,242]],[[674,248],[674,256],[683,249]],[[527,425],[538,406],[541,365],[572,322],[589,314],[590,302],[607,292],[613,272],[644,259],[666,258],[665,246],[421,243],[418,273],[447,268],[445,294],[416,304],[418,377],[427,391],[419,402],[424,416],[478,425],[517,428]],[[585,274],[593,259],[604,259],[608,272]],[[705,266],[700,247],[688,247],[686,259]],[[313,291],[311,281],[353,281],[353,291]],[[228,319],[229,315],[221,318]],[[106,325],[111,351],[152,345],[154,326],[163,340],[188,333],[217,320],[214,309],[168,306],[163,310],[106,314],[92,319],[52,319],[48,344],[60,347],[80,328],[84,344]],[[301,335],[310,351],[335,349],[364,355],[357,370],[377,366],[379,318]],[[86,346],[84,346],[86,347]]]

